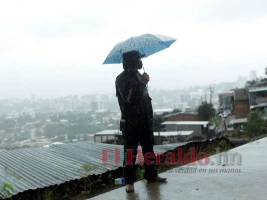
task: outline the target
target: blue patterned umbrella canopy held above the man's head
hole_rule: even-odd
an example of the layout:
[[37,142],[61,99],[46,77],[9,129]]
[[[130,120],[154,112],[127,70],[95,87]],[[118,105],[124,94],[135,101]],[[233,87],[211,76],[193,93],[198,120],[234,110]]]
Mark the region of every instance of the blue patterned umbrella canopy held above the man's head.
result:
[[122,54],[132,50],[145,54],[145,57],[152,55],[169,47],[176,39],[160,34],[142,34],[130,37],[125,41],[117,43],[108,54],[103,64],[122,63]]

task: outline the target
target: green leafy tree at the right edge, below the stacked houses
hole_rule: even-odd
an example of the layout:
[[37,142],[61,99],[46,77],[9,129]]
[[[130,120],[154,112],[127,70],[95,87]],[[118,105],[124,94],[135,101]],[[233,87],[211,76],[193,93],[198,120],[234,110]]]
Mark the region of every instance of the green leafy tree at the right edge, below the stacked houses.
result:
[[247,121],[243,124],[243,130],[250,139],[266,132],[264,113],[263,110],[256,109],[247,114]]

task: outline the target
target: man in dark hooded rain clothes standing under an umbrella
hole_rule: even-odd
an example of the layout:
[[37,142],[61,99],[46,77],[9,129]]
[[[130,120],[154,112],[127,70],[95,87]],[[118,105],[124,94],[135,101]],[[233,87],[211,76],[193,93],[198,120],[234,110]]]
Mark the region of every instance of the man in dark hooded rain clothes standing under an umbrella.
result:
[[[147,83],[149,75],[139,73],[143,64],[138,51],[123,53],[124,71],[116,78],[116,95],[121,109],[120,130],[124,137],[124,179],[126,191],[134,191],[136,178],[135,160],[139,142],[143,155],[150,152],[148,161],[144,163],[144,178],[148,181],[165,181],[158,176],[155,165],[156,156],[153,150],[154,135],[152,129],[153,110],[148,95]],[[152,158],[151,158],[152,157]]]

